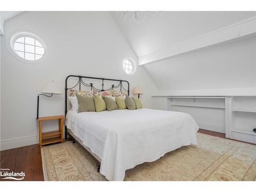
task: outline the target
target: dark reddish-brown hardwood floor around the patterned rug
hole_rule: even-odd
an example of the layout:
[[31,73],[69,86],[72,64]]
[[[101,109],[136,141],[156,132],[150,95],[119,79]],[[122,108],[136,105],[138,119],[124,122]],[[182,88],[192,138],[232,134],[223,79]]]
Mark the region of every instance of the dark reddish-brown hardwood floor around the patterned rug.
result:
[[[201,129],[198,132],[211,136],[225,138],[225,134],[223,133],[217,133]],[[41,150],[38,144],[1,151],[0,155],[0,168],[9,168],[10,170],[8,170],[8,172],[25,172],[26,176],[24,178],[24,181],[44,181],[44,174],[42,172]]]

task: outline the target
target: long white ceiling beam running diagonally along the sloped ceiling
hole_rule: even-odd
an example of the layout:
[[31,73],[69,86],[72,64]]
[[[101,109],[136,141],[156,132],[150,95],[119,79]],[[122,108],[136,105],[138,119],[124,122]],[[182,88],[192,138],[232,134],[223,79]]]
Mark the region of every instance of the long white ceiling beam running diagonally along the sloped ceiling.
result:
[[139,57],[139,65],[145,65],[188,52],[226,44],[230,41],[254,35],[256,35],[256,16],[187,40],[181,44],[169,46],[151,54],[141,56]]

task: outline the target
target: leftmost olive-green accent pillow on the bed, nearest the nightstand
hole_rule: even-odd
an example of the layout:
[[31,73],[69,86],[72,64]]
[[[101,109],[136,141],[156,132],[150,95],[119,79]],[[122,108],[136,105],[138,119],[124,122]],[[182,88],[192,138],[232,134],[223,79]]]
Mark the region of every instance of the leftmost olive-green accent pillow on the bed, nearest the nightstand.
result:
[[76,94],[76,98],[78,101],[78,113],[86,111],[95,111],[93,97],[87,97]]

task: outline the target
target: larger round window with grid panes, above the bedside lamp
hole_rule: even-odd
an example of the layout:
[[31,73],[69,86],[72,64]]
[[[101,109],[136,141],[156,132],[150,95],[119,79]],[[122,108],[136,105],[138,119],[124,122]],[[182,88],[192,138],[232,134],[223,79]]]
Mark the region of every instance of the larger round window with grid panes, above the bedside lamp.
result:
[[19,33],[12,37],[11,48],[15,57],[33,63],[44,57],[46,46],[39,37],[30,33]]

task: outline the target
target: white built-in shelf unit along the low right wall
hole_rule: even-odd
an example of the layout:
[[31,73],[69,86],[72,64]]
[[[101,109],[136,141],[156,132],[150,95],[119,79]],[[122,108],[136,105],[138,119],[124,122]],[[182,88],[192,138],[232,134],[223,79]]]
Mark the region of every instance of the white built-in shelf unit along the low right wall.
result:
[[154,109],[188,113],[201,129],[256,143],[256,95],[153,96]]

